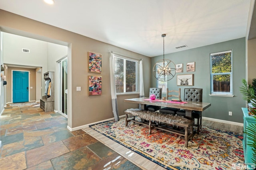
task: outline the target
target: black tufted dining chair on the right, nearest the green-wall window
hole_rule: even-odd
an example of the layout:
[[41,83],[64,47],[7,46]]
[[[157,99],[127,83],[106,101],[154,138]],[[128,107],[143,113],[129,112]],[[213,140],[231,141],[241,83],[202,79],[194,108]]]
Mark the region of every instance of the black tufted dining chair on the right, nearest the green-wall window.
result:
[[[202,88],[184,88],[184,102],[202,102],[203,89]],[[177,111],[177,115],[185,116],[186,111],[181,109]],[[199,135],[200,129],[202,129],[202,112],[192,111],[192,117],[197,119],[197,134]]]

